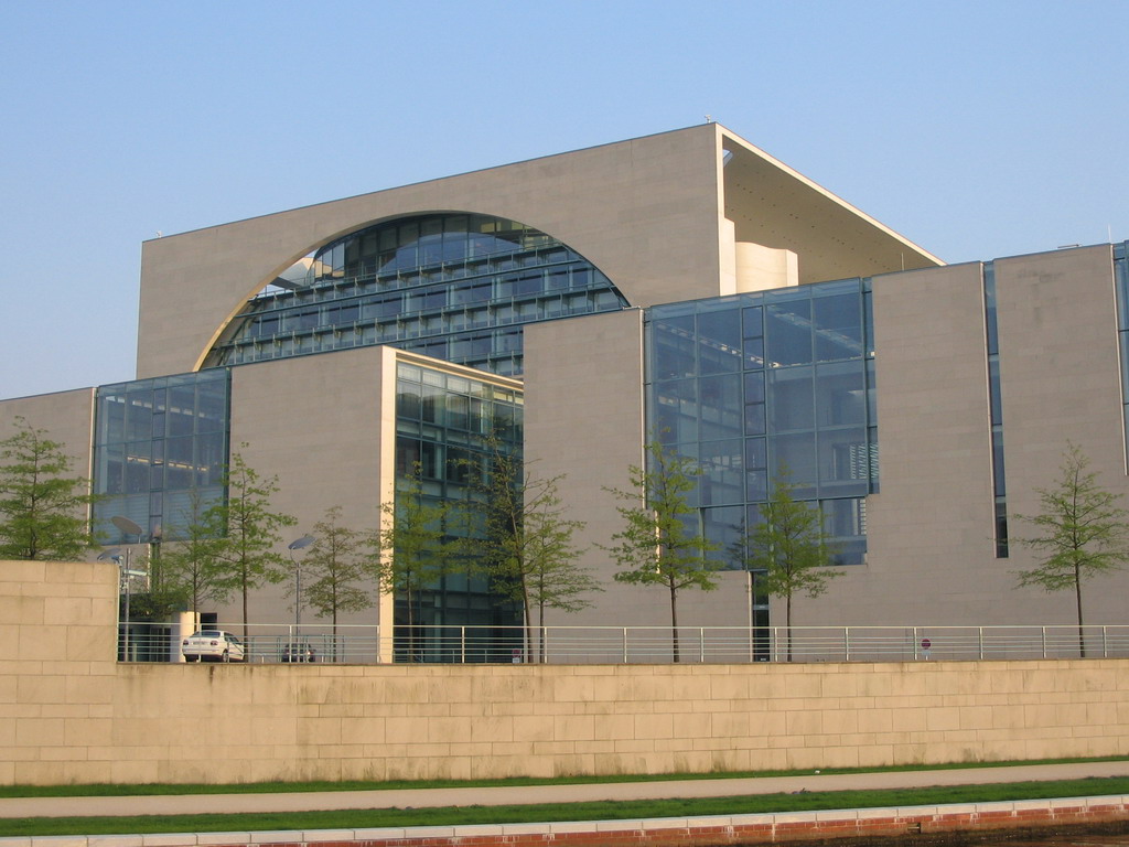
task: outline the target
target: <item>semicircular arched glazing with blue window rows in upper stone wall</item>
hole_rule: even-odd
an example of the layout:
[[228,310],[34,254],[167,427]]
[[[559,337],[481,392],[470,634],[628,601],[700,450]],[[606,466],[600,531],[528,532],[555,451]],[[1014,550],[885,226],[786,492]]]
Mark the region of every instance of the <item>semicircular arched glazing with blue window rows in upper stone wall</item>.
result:
[[487,215],[417,215],[347,235],[252,298],[204,367],[393,344],[506,376],[522,325],[627,299],[567,245]]

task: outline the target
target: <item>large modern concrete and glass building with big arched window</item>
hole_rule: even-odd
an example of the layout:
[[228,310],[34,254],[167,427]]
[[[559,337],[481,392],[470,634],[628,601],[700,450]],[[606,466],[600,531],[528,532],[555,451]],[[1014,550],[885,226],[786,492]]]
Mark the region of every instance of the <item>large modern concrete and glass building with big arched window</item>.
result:
[[[102,529],[166,542],[233,449],[278,475],[297,536],[331,506],[376,526],[414,463],[463,496],[461,459],[501,431],[562,475],[604,584],[552,621],[615,626],[669,620],[598,547],[657,435],[698,463],[723,547],[780,468],[819,505],[842,576],[794,623],[1069,623],[1069,596],[1016,587],[1008,533],[1068,442],[1129,492],[1127,287],[1124,245],[946,267],[710,123],[147,242],[137,381],[5,401],[0,431],[49,429]],[[1127,587],[1089,584],[1087,620],[1122,622]],[[286,619],[286,588],[252,617]],[[720,588],[680,623],[784,623],[739,569]],[[425,601],[426,622],[517,620],[483,579]]]

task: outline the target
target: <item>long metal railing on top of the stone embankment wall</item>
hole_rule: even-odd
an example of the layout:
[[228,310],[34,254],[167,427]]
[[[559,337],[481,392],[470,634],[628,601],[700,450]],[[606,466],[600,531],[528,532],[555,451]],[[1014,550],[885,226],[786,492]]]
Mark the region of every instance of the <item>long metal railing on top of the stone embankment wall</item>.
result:
[[[441,664],[666,664],[671,627],[474,627],[221,623],[250,663],[420,662]],[[119,634],[119,660],[180,661],[173,625],[134,622]],[[129,649],[129,656],[125,649]],[[1129,657],[1129,625],[987,627],[679,627],[677,661],[947,662]]]

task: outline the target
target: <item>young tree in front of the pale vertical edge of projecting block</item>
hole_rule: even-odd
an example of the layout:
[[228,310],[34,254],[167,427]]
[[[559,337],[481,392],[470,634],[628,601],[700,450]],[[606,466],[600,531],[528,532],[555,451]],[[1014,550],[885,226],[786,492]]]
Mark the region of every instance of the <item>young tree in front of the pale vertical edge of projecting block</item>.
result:
[[447,573],[453,551],[446,524],[452,505],[429,498],[419,465],[397,486],[392,501],[380,504],[384,524],[369,538],[370,564],[383,594],[403,597],[408,608],[408,661],[415,661],[415,608],[423,588]]

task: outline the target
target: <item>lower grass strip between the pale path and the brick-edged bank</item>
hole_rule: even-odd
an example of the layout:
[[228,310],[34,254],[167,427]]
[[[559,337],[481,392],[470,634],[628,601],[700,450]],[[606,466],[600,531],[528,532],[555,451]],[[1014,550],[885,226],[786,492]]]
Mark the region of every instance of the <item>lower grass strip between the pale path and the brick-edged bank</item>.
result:
[[1093,777],[1049,783],[998,783],[892,791],[803,792],[736,797],[546,803],[541,805],[361,809],[330,812],[296,811],[131,818],[24,818],[0,820],[0,836],[248,832],[376,827],[450,827],[474,823],[548,823],[552,821],[811,812],[834,809],[939,805],[943,803],[990,803],[1106,794],[1129,794],[1129,777]]

